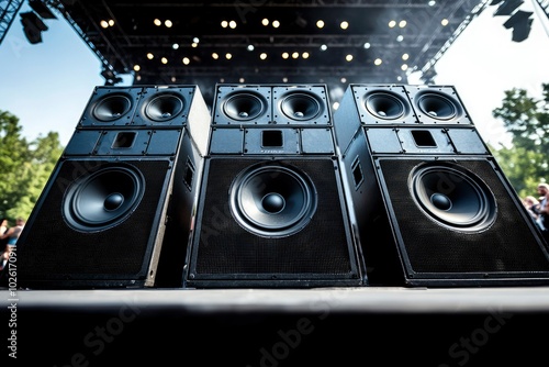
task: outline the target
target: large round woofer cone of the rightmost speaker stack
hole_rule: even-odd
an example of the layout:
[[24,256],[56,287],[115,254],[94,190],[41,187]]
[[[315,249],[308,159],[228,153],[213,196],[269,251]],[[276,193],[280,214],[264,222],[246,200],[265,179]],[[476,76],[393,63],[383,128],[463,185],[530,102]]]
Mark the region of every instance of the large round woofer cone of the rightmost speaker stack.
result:
[[482,231],[495,220],[490,188],[474,174],[444,165],[421,165],[411,173],[415,202],[437,222],[459,231]]

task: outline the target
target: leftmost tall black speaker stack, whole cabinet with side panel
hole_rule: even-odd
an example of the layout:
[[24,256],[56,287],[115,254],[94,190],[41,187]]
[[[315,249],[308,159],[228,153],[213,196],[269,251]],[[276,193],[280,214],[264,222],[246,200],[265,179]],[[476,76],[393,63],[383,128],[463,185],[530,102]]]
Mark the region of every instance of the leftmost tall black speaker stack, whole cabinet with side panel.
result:
[[19,240],[20,285],[181,287],[208,145],[191,131],[210,127],[200,90],[98,87],[83,115],[108,126],[78,124]]

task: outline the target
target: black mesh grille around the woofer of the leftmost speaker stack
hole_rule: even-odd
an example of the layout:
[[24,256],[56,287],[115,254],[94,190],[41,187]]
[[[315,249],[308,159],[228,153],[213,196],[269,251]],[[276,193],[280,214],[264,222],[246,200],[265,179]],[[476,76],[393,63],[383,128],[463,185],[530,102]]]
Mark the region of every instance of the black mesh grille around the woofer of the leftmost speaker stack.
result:
[[[124,164],[108,160],[66,160],[53,178],[53,186],[20,244],[20,274],[25,279],[111,279],[146,275],[155,234],[154,221],[161,199],[168,160],[133,162],[145,178],[139,204],[121,224],[99,231],[78,232],[63,216],[63,198],[68,186],[82,173]],[[126,165],[127,167],[127,165]],[[134,278],[135,277],[135,278]]]

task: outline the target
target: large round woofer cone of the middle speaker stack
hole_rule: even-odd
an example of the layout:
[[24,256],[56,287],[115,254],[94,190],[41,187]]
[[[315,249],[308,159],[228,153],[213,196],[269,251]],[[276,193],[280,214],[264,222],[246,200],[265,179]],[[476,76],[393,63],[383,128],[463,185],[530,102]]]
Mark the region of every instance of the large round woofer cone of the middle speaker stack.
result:
[[245,230],[265,237],[301,231],[316,210],[316,190],[294,167],[256,165],[231,186],[231,211]]

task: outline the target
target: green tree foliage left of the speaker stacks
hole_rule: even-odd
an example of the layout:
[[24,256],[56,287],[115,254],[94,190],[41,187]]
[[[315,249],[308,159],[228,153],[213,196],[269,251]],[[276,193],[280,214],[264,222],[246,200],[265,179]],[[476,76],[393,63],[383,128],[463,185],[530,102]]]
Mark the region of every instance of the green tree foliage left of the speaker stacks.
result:
[[63,153],[57,133],[27,142],[19,119],[0,111],[0,215],[29,218]]

